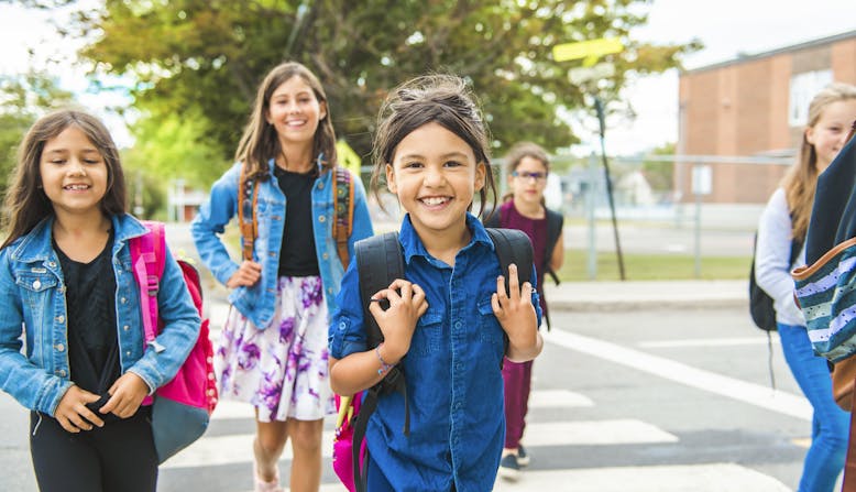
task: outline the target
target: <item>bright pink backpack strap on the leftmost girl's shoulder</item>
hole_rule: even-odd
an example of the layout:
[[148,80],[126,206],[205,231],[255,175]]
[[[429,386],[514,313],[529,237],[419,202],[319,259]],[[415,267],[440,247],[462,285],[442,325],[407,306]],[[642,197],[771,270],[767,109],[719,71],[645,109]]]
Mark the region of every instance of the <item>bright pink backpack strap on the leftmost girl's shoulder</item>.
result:
[[164,273],[166,238],[163,222],[144,220],[149,233],[131,238],[131,265],[134,277],[140,285],[140,309],[143,316],[145,343],[154,341],[157,336],[157,291]]

